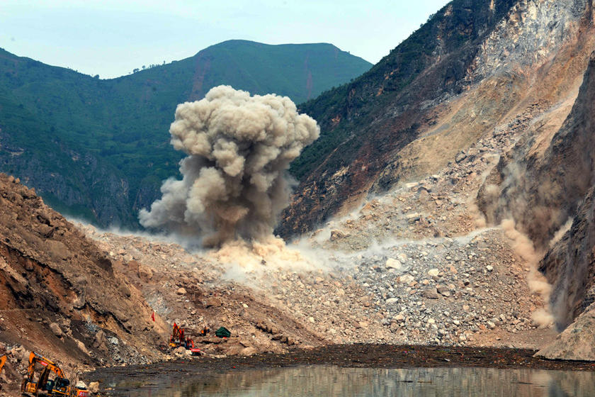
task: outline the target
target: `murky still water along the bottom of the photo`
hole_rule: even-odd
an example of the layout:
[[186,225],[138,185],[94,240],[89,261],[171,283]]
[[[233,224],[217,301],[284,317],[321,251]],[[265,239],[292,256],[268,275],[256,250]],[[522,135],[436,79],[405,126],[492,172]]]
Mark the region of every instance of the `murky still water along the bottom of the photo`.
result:
[[542,369],[366,369],[302,366],[123,380],[114,396],[595,396],[595,372]]

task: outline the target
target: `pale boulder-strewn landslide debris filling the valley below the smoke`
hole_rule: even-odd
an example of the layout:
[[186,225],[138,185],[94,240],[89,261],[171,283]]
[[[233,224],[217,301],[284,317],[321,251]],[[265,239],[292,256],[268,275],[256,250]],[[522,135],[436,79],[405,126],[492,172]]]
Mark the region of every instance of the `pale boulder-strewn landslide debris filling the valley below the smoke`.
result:
[[[507,122],[458,163],[370,198],[302,237],[295,247],[309,247],[318,270],[263,265],[243,273],[239,264],[230,280],[229,268],[210,251],[80,227],[170,323],[186,325],[193,335],[204,325],[223,325],[257,352],[288,350],[293,344],[283,344],[285,337],[297,347],[541,347],[555,334],[533,322],[543,302],[528,289],[527,265],[503,230],[477,228],[470,205],[482,175],[514,145],[517,127]],[[198,340],[208,354],[229,354],[231,339],[217,349]]]

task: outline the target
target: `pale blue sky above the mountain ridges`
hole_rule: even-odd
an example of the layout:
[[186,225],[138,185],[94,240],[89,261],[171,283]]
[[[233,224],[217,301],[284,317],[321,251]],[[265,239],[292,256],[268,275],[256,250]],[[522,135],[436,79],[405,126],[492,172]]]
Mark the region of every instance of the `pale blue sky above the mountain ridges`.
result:
[[230,39],[331,43],[376,63],[447,0],[0,0],[0,47],[101,78]]

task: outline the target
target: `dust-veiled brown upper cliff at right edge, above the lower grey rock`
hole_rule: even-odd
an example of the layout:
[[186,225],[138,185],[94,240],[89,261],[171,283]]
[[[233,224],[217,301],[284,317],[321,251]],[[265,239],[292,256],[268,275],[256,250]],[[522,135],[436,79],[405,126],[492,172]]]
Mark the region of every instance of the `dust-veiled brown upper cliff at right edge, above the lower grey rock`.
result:
[[547,150],[539,150],[538,136],[523,136],[487,179],[479,201],[490,223],[511,216],[538,248],[547,247],[593,184],[594,100],[591,56],[572,111]]

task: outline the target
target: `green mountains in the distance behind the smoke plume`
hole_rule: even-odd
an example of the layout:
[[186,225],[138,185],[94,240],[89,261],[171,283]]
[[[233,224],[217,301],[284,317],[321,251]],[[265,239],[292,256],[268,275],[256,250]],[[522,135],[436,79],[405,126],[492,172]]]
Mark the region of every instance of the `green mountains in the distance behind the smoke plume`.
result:
[[220,84],[299,104],[370,66],[330,44],[230,40],[103,80],[0,50],[0,172],[21,177],[62,211],[134,226],[137,211],[177,172],[181,153],[168,132],[177,104]]

